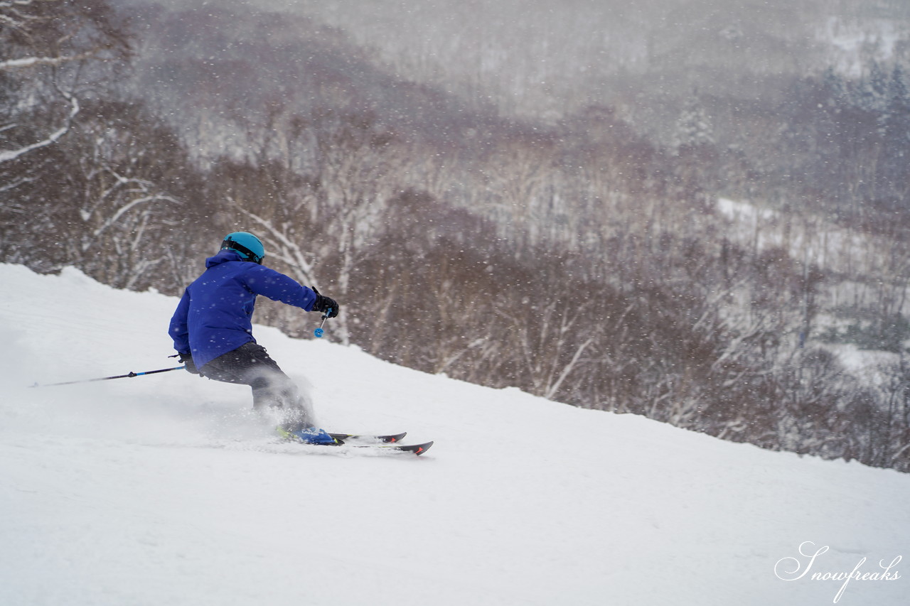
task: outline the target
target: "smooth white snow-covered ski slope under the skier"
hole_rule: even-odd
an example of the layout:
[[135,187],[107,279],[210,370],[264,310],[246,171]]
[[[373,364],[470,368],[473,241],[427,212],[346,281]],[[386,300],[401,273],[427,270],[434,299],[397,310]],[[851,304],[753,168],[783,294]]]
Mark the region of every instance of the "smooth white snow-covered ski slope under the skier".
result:
[[[0,280],[0,604],[805,606],[844,584],[815,572],[863,559],[861,573],[882,572],[910,555],[906,475],[484,389],[271,328],[259,342],[309,380],[327,429],[406,429],[436,445],[414,458],[282,444],[248,415],[247,388],[183,371],[28,389],[171,366],[177,301],[74,270],[0,265]],[[804,541],[829,549],[782,580],[805,571]],[[908,593],[903,577],[852,580],[838,603]]]

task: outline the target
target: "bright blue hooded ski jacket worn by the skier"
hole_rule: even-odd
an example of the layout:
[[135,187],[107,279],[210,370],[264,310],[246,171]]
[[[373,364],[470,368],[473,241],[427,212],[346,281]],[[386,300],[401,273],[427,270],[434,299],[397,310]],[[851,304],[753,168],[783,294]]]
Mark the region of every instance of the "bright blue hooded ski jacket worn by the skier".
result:
[[190,284],[171,318],[169,333],[178,353],[191,354],[197,368],[253,338],[256,297],[311,311],[312,289],[274,269],[244,261],[233,250],[206,259],[206,271]]

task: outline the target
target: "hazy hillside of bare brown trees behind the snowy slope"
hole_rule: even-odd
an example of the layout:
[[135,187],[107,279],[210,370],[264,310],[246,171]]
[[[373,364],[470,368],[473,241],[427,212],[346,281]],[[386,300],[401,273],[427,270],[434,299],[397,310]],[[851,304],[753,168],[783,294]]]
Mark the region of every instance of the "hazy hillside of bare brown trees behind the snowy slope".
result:
[[[417,5],[307,4],[0,4],[0,260],[177,294],[248,229],[382,358],[910,469],[903,5],[646,3],[578,37],[595,70],[564,44],[596,3],[509,36],[452,3],[431,38]],[[387,45],[353,19],[377,14]]]

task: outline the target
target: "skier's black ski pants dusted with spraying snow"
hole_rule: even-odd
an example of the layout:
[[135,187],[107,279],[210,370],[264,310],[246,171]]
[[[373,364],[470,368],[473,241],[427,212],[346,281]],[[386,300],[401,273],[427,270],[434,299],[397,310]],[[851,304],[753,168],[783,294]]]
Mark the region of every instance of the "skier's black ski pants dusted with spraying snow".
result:
[[266,348],[249,341],[218,356],[199,369],[207,379],[239,383],[253,389],[253,409],[281,409],[283,423],[292,428],[308,426],[308,407],[294,384]]

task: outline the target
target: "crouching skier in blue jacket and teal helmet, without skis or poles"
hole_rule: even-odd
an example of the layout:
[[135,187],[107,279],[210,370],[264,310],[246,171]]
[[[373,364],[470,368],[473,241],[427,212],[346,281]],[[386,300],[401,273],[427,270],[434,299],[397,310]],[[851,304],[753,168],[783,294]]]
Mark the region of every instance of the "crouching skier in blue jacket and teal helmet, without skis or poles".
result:
[[280,409],[282,435],[308,443],[335,443],[325,430],[313,426],[308,402],[253,338],[251,318],[258,295],[328,318],[339,315],[339,305],[315,288],[264,267],[263,258],[265,247],[258,237],[245,231],[227,234],[217,255],[206,259],[206,271],[187,287],[177,305],[169,329],[174,348],[189,372],[250,386],[253,409]]

